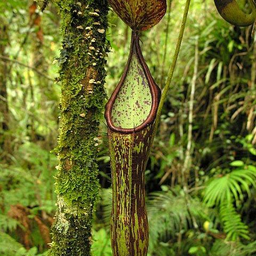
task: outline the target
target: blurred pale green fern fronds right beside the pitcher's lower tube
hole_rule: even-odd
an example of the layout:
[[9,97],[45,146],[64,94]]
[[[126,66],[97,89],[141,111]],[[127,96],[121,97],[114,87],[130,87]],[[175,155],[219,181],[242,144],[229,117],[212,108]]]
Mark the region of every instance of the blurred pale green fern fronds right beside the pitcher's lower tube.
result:
[[198,228],[199,222],[208,219],[205,206],[184,194],[156,192],[149,199],[149,251],[154,249],[160,239],[164,241],[190,227]]

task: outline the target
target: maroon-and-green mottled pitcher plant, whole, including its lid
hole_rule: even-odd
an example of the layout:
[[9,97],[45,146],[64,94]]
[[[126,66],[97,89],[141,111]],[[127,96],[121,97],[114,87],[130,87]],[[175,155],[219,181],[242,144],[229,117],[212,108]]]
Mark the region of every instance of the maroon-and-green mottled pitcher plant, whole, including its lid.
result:
[[130,55],[105,111],[113,180],[111,244],[114,256],[146,256],[145,169],[161,90],[142,56],[139,34],[155,26],[166,0],[109,0],[132,28]]

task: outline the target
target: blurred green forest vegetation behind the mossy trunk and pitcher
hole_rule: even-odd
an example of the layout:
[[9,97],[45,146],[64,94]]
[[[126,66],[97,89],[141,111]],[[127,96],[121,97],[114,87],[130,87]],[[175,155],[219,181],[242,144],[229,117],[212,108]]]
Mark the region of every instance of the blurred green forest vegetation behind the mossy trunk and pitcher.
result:
[[[143,33],[163,88],[183,0]],[[162,123],[146,171],[149,256],[256,255],[256,44],[213,0],[191,1]],[[0,2],[0,255],[46,255],[55,213],[60,17],[50,2]],[[122,75],[130,29],[109,12],[108,95]],[[106,99],[107,100],[107,99]],[[110,256],[111,174],[102,119],[92,253]]]

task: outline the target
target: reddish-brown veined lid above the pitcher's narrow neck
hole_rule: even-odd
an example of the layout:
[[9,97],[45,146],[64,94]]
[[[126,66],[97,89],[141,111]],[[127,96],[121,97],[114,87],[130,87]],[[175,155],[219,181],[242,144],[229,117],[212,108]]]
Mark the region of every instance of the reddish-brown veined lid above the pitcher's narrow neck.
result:
[[133,30],[155,26],[166,13],[166,0],[109,0],[117,15]]

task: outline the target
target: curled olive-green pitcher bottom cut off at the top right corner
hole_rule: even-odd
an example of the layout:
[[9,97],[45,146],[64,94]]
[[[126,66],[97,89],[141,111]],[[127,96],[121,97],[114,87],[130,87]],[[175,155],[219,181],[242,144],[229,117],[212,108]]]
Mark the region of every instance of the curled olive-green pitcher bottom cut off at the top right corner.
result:
[[[244,6],[239,6],[236,0],[214,0],[214,3],[221,17],[235,26],[250,26],[256,20],[256,5],[254,0],[248,1],[250,13],[242,10],[241,8]],[[245,4],[245,1],[243,1],[243,4]]]

